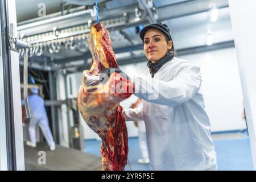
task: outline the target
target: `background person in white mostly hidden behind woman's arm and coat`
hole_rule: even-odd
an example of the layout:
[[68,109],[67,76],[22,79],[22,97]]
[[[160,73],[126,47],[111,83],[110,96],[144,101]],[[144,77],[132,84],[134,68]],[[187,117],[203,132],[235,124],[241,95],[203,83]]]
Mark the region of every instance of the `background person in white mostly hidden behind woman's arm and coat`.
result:
[[[135,107],[142,106],[141,98],[131,105],[131,109]],[[139,148],[141,149],[142,159],[138,159],[139,164],[148,164],[150,162],[148,158],[148,149],[147,149],[147,137],[146,137],[146,127],[144,121],[134,121],[134,125],[138,127],[138,137],[139,137]]]

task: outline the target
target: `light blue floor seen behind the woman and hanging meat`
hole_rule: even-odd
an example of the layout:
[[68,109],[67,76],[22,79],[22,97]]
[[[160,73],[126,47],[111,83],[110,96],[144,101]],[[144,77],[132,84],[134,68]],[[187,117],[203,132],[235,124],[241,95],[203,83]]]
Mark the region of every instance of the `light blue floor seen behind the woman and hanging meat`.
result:
[[[249,137],[242,139],[220,139],[213,141],[217,153],[217,164],[219,170],[243,171],[253,170],[251,158]],[[149,164],[138,164],[137,160],[141,158],[139,151],[138,138],[129,138],[129,154],[125,170],[147,171],[150,169]],[[101,141],[85,140],[85,152],[101,156]]]

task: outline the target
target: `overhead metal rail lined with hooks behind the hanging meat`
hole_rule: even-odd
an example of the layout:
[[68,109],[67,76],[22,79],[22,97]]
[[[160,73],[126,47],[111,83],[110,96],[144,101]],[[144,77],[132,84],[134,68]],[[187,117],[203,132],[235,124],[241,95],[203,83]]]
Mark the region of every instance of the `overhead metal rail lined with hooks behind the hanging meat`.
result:
[[[146,20],[146,13],[141,17],[130,19],[127,13],[124,13],[121,18],[102,20],[106,28],[125,28],[135,26]],[[88,20],[86,24],[80,26],[68,27],[58,29],[53,27],[50,32],[43,34],[36,34],[31,36],[23,36],[22,40],[31,45],[29,49],[29,56],[41,56],[44,52],[58,53],[61,48],[75,49],[76,47],[88,48],[89,31],[92,26],[92,20]],[[24,51],[20,50],[19,56],[23,56]]]

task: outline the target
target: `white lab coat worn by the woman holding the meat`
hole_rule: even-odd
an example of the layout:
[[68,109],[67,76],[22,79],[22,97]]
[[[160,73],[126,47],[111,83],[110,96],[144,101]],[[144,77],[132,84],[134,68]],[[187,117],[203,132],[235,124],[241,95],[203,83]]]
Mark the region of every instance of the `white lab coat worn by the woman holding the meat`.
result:
[[200,68],[174,57],[154,78],[135,77],[143,106],[123,111],[144,120],[152,170],[216,170],[210,122],[200,93]]

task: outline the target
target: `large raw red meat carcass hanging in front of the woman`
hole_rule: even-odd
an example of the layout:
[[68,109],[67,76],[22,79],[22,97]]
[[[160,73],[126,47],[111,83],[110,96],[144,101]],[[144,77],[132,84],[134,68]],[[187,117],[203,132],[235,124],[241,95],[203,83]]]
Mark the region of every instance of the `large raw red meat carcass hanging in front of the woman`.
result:
[[[89,48],[92,66],[82,74],[77,105],[87,125],[102,139],[102,170],[123,170],[127,164],[128,138],[119,102],[131,96],[134,85],[115,72],[104,82],[88,82],[105,68],[118,68],[109,32],[102,23],[92,26]],[[119,92],[113,92],[121,80]]]

